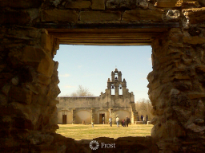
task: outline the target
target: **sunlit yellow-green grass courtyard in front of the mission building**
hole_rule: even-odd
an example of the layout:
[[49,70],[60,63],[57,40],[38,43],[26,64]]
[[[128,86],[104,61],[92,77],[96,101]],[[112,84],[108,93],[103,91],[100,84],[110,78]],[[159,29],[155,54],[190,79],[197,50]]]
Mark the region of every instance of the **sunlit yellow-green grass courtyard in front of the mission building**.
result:
[[133,124],[128,127],[117,127],[114,124],[110,127],[108,124],[95,124],[91,125],[83,124],[59,124],[59,129],[56,133],[65,137],[73,138],[75,140],[81,139],[94,139],[98,137],[127,137],[127,136],[150,136],[153,125],[146,124]]

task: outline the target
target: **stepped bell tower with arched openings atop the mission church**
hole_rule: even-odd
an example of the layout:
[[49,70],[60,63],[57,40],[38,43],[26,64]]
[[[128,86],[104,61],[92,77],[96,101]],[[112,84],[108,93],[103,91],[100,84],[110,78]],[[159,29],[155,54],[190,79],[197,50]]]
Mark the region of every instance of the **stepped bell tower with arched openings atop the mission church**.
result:
[[126,81],[122,81],[122,73],[116,68],[111,72],[111,80],[108,78],[107,88],[110,89],[111,95],[123,95],[123,91],[126,90]]

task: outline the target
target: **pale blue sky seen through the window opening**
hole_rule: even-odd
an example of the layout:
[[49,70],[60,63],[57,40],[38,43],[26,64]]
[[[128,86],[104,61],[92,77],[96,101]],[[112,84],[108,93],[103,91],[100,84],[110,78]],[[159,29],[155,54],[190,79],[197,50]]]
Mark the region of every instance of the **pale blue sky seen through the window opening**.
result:
[[54,60],[59,62],[59,96],[71,95],[79,85],[99,96],[117,68],[135,101],[148,99],[146,78],[152,71],[151,46],[60,45]]

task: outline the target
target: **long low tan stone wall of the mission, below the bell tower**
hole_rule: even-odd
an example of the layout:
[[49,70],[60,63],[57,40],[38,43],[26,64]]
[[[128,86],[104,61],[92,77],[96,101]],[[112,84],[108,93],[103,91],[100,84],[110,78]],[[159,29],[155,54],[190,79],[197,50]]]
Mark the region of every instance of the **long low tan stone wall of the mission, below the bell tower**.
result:
[[[114,97],[114,96],[112,96]],[[90,112],[91,109],[95,110],[94,115],[94,123],[99,124],[100,123],[100,117],[99,114],[105,114],[105,123],[108,122],[108,119],[110,117],[108,110],[109,108],[113,108],[113,112],[116,112],[112,114],[113,117],[113,123],[115,123],[116,115],[119,116],[120,120],[124,119],[126,116],[130,117],[132,119],[132,123],[134,123],[134,118],[131,116],[131,113],[133,113],[134,110],[132,110],[132,105],[130,104],[129,98],[123,98],[123,97],[58,97],[59,103],[57,106],[57,113],[58,113],[58,123],[62,123],[62,114],[64,111],[66,111],[67,117],[69,117],[69,120],[67,119],[67,123],[72,123],[70,117],[70,112],[75,109],[76,113],[76,119],[75,124],[81,124],[83,120],[86,121],[86,124],[91,123],[91,114],[89,115],[90,118],[85,119],[85,116],[79,116],[79,112],[87,111]],[[112,99],[111,101],[107,101],[108,99]],[[126,113],[125,113],[126,112]],[[86,115],[88,116],[88,115]],[[136,115],[135,115],[136,116]],[[84,118],[84,119],[83,119]],[[101,124],[101,123],[100,123]]]

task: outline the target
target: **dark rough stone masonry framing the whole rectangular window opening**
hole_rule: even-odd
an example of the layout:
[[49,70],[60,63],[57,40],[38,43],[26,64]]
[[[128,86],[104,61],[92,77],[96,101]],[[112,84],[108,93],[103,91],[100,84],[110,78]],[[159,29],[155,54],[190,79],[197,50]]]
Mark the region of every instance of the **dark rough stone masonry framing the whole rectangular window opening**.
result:
[[0,0],[0,152],[92,152],[55,133],[59,44],[152,46],[151,137],[96,152],[204,152],[204,0]]

